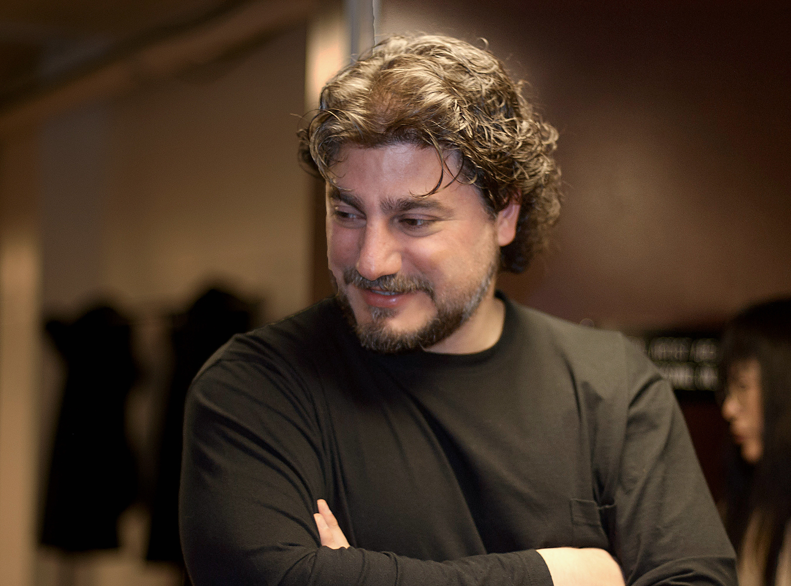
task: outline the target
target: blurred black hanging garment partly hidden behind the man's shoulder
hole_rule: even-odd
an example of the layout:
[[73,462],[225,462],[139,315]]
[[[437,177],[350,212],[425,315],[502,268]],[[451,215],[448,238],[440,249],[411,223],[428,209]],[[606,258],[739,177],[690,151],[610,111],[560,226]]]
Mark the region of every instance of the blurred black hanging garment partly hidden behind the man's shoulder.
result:
[[255,306],[221,289],[209,289],[187,312],[172,316],[173,372],[162,428],[151,531],[146,558],[184,564],[178,504],[184,399],[203,363],[228,339],[252,327]]

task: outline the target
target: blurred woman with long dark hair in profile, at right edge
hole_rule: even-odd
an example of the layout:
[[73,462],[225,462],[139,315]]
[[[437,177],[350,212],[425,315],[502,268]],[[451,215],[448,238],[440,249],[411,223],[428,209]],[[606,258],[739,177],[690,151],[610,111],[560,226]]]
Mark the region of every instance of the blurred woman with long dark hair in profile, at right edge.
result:
[[741,586],[791,586],[791,298],[725,328],[722,414],[731,425],[725,527]]

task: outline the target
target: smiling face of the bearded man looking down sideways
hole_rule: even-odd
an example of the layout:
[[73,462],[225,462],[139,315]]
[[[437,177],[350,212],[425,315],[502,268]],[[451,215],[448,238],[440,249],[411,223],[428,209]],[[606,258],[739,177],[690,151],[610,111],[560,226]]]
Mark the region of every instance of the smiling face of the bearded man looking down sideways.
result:
[[476,187],[451,181],[433,149],[346,146],[327,186],[327,257],[339,298],[364,346],[430,347],[491,301],[501,240]]

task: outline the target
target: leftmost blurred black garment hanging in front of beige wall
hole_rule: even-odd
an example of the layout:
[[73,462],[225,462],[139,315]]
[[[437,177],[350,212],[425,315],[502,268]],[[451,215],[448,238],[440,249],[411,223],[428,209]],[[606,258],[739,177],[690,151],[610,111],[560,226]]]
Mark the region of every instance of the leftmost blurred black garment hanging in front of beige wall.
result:
[[47,333],[66,361],[41,543],[66,551],[118,546],[118,516],[137,496],[124,406],[137,376],[131,325],[115,309],[91,309]]

